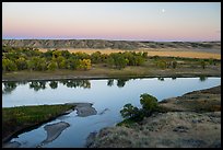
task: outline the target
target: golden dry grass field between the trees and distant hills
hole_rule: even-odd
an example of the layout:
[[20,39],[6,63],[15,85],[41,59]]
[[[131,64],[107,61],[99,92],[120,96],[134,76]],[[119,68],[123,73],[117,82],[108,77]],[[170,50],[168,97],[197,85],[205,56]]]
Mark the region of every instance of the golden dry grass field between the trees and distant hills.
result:
[[[47,49],[40,48],[40,51],[47,51]],[[61,50],[66,50],[61,48]],[[166,49],[136,49],[136,50],[121,50],[121,49],[83,49],[83,48],[67,48],[70,53],[86,53],[93,54],[95,51],[101,51],[102,54],[110,54],[110,53],[124,53],[124,51],[148,51],[149,56],[167,56],[167,57],[185,57],[185,58],[214,58],[221,59],[221,54],[214,53],[204,53],[204,51],[189,51],[188,49],[174,49],[174,48],[166,48]]]

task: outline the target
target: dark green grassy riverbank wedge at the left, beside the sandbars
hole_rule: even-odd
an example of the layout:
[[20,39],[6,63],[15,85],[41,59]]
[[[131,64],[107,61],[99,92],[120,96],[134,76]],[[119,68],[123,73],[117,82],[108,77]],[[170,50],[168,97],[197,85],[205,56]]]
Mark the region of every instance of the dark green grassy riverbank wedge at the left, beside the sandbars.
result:
[[68,114],[75,105],[38,105],[2,108],[2,142],[24,130],[36,128],[58,116]]

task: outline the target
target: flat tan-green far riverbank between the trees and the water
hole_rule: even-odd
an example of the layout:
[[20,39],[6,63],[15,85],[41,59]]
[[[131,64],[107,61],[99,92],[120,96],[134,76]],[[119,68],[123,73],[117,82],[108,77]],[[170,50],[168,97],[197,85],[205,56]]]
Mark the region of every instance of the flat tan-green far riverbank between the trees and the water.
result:
[[[191,65],[192,66],[192,65]],[[2,81],[35,81],[63,79],[114,79],[114,78],[177,78],[177,77],[221,77],[221,64],[199,66],[178,65],[176,69],[160,69],[146,62],[141,67],[126,67],[121,70],[95,65],[91,70],[14,71],[2,73]]]

